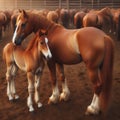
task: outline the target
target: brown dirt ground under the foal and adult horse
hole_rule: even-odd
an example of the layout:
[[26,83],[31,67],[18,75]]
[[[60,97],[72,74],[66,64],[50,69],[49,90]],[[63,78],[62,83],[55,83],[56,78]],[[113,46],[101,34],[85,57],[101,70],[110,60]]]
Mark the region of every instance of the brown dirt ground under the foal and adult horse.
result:
[[[65,66],[65,74],[71,91],[68,102],[59,102],[48,105],[48,98],[52,93],[50,75],[47,66],[40,83],[40,100],[43,107],[38,109],[34,104],[35,112],[30,113],[27,107],[27,78],[26,74],[18,71],[16,88],[20,99],[10,102],[6,95],[6,66],[2,60],[2,50],[10,42],[12,33],[5,33],[0,41],[0,120],[120,120],[120,41],[115,41],[114,79],[111,105],[106,116],[86,116],[85,111],[91,103],[93,92],[88,80],[84,63]],[[59,78],[58,78],[59,80]],[[59,80],[61,91],[61,82]]]

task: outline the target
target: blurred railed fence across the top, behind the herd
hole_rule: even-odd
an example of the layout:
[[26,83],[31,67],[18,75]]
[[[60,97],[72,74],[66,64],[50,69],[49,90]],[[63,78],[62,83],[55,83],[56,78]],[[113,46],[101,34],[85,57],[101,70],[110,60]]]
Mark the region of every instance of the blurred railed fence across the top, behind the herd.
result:
[[4,9],[50,9],[67,8],[120,8],[120,0],[0,0],[0,10]]

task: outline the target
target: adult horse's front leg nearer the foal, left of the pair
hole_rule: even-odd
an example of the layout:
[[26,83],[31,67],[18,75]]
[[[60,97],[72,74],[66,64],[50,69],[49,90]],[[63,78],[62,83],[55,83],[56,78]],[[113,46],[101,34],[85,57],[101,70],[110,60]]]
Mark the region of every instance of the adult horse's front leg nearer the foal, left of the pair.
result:
[[51,74],[51,82],[52,82],[52,95],[49,98],[48,104],[50,103],[57,103],[57,101],[59,100],[59,89],[58,89],[58,84],[57,84],[57,80],[56,80],[56,65],[55,62],[50,60],[47,62],[48,67],[49,67],[49,71]]

